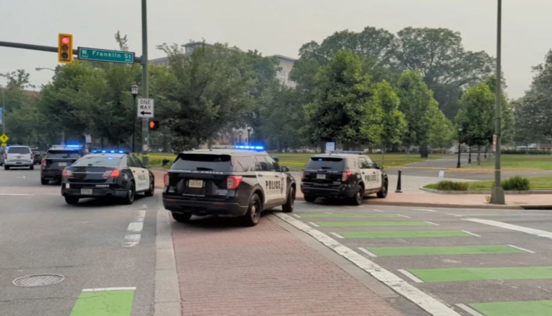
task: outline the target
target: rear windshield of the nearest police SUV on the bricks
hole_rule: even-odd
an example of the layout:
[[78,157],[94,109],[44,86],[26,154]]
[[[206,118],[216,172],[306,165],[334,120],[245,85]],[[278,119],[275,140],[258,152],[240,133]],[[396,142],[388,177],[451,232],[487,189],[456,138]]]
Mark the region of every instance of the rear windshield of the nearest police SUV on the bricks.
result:
[[230,160],[230,155],[179,154],[172,169],[230,172]]

